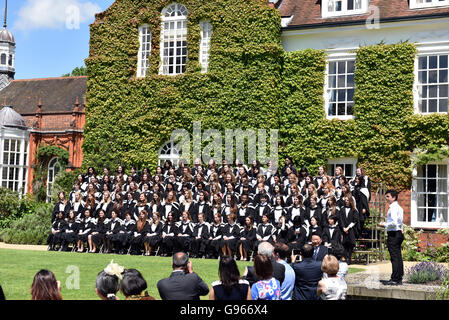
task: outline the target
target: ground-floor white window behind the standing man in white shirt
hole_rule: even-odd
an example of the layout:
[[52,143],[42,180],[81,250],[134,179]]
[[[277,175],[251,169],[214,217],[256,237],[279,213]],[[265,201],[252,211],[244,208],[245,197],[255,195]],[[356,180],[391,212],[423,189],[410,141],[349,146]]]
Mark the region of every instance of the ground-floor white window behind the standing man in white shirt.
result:
[[448,162],[420,165],[413,171],[411,225],[447,228]]

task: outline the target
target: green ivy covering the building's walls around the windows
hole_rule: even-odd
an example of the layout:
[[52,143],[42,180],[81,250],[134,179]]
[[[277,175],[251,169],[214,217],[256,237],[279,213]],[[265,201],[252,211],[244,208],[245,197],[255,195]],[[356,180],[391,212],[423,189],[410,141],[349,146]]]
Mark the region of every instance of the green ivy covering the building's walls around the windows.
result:
[[[84,167],[157,165],[172,130],[279,129],[280,159],[315,172],[327,159],[356,157],[373,181],[406,189],[411,153],[449,141],[447,114],[416,115],[416,48],[357,50],[353,120],[327,120],[325,53],[285,52],[280,15],[266,0],[182,1],[189,10],[185,74],[158,75],[160,12],[168,0],[117,0],[91,26]],[[199,65],[199,21],[213,26],[209,71]],[[135,77],[138,27],[152,32],[150,72]]]

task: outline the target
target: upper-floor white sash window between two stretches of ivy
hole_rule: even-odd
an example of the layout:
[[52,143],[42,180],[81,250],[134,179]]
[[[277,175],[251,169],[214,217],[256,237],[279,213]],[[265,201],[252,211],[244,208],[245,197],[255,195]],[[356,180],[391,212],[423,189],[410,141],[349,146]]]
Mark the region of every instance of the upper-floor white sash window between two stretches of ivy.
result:
[[354,118],[355,54],[328,58],[324,82],[324,104],[328,119]]

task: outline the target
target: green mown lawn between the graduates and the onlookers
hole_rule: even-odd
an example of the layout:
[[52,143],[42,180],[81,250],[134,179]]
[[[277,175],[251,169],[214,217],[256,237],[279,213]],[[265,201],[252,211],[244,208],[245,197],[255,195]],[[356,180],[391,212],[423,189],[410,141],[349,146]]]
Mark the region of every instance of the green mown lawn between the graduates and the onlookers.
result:
[[[61,282],[64,300],[98,300],[94,291],[96,276],[112,259],[125,268],[139,270],[147,281],[148,293],[160,299],[156,284],[170,276],[171,258],[0,249],[0,284],[6,299],[29,300],[34,275],[40,269],[48,269]],[[209,286],[218,279],[218,260],[192,259],[192,264],[194,271]],[[252,262],[238,261],[237,264],[243,274],[245,267]],[[73,289],[76,268],[79,270],[79,289]],[[350,268],[349,273],[362,270]],[[124,299],[121,293],[118,295]]]

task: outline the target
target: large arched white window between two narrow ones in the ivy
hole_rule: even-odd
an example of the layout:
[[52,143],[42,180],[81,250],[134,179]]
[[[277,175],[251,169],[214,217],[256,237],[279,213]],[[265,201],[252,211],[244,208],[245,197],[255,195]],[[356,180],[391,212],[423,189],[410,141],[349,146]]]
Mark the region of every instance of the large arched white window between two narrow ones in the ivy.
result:
[[173,3],[162,10],[160,74],[185,72],[187,62],[187,14],[185,6]]

